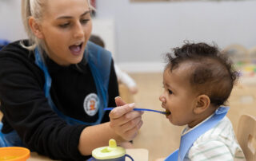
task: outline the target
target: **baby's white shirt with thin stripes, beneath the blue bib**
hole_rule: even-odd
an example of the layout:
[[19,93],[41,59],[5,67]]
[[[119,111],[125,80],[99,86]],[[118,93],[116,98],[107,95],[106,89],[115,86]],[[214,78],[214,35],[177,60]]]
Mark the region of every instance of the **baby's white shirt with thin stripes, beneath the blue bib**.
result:
[[[182,135],[192,129],[193,128],[188,129],[187,127]],[[201,135],[193,143],[190,150],[186,153],[184,160],[244,161],[246,159],[242,152],[242,148],[239,146],[234,135],[232,124],[225,116],[216,126],[214,126],[214,128],[211,128],[209,131]]]

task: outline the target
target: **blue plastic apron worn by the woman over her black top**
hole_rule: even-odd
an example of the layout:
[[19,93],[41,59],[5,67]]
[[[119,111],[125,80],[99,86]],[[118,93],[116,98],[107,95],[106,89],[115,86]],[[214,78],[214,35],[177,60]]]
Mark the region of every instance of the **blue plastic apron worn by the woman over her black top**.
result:
[[[110,78],[110,67],[111,67],[111,53],[106,49],[95,45],[94,43],[88,41],[86,49],[84,52],[84,57],[88,65],[90,66],[90,71],[94,77],[94,83],[97,89],[97,95],[99,97],[98,103],[98,120],[94,123],[83,122],[81,120],[76,120],[70,116],[64,115],[62,112],[56,108],[53,100],[50,96],[50,87],[51,87],[51,77],[47,70],[47,67],[42,60],[42,55],[39,53],[38,49],[35,49],[35,64],[42,69],[45,76],[44,92],[45,96],[50,104],[50,108],[58,114],[67,124],[86,124],[88,126],[100,124],[104,116],[105,111],[103,108],[106,108],[108,105],[108,84]],[[19,146],[23,147],[22,141],[19,138],[17,132],[13,131],[8,134],[3,134],[1,132],[2,123],[0,122],[0,147],[10,147],[10,146]]]

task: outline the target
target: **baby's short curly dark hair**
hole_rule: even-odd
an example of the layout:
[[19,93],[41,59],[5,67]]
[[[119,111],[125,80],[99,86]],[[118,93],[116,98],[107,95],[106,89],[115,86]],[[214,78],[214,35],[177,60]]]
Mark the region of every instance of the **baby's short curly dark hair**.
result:
[[194,92],[205,94],[214,106],[226,105],[226,100],[238,80],[238,72],[226,54],[217,45],[206,43],[185,42],[181,48],[174,48],[173,53],[167,53],[170,72],[184,62],[190,62],[191,70],[188,80]]

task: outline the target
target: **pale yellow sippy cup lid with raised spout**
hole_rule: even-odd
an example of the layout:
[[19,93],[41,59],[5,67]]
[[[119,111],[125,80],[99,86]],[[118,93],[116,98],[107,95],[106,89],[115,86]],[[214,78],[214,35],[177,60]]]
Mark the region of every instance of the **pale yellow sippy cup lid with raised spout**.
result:
[[126,155],[126,149],[118,147],[114,139],[110,139],[109,147],[98,147],[92,151],[95,159],[115,159]]

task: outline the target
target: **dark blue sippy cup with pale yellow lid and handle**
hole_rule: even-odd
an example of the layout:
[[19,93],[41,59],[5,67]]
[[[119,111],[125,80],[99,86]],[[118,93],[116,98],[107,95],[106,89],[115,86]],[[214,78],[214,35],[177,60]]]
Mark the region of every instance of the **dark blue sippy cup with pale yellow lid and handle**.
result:
[[126,155],[126,149],[118,147],[114,139],[110,139],[109,147],[98,147],[92,151],[90,161],[125,161],[126,156],[134,161],[130,155]]

